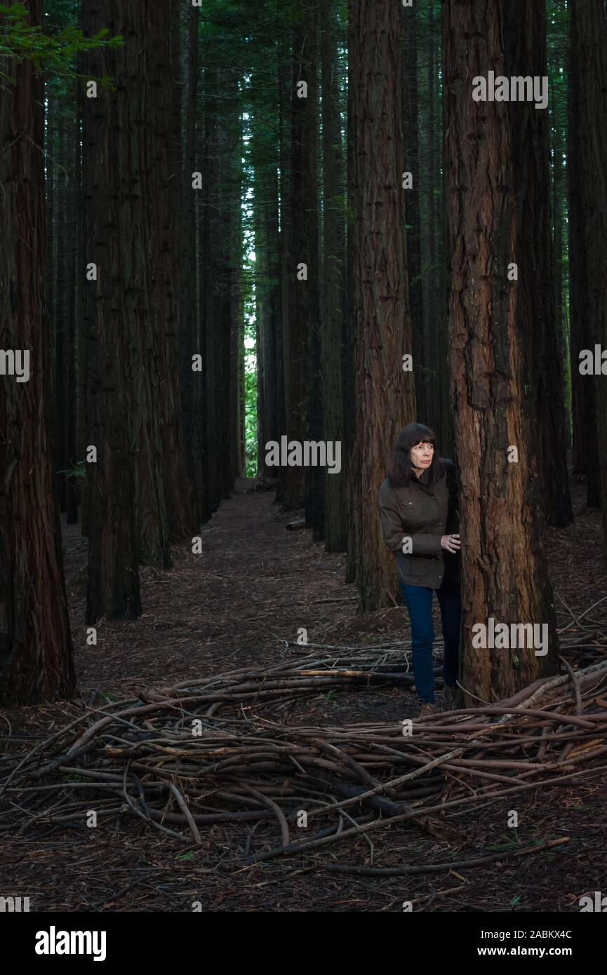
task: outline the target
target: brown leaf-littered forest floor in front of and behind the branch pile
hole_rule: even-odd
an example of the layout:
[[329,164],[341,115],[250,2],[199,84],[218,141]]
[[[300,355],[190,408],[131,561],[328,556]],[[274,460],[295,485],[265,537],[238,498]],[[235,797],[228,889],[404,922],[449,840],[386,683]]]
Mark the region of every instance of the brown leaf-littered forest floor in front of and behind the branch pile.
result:
[[[142,688],[279,662],[284,642],[296,640],[301,627],[308,643],[369,646],[406,639],[405,609],[357,614],[355,587],[343,581],[344,556],[325,553],[309,531],[285,530],[298,513],[281,513],[273,492],[247,491],[253,484],[240,481],[203,526],[202,555],[192,556],[190,545],[182,545],[174,550],[171,571],[142,569],[142,618],[102,622],[96,646],[87,645],[84,624],[86,542],[78,526],[63,529],[79,697],[5,711],[13,733],[9,744],[4,739],[7,750],[20,753],[41,733],[47,736],[81,714],[92,699],[99,705],[137,696]],[[585,508],[585,487],[573,484],[572,489],[576,521],[551,529],[546,550],[558,623],[570,623],[575,637],[580,631],[572,613],[579,616],[601,600],[607,572],[600,553],[600,515]],[[596,632],[607,632],[607,604],[592,610],[588,621]],[[569,660],[580,662],[571,654]],[[394,723],[416,713],[411,690],[352,687],[298,700],[283,720],[292,725]],[[517,795],[517,830],[506,826],[512,801],[489,800],[472,811],[451,812],[464,838],[457,847],[386,819],[385,828],[374,834],[373,863],[467,860],[511,849],[512,842],[569,841],[558,850],[415,878],[332,874],[327,867],[332,858],[339,864],[369,862],[368,839],[358,835],[331,846],[329,858],[313,850],[240,872],[236,866],[226,876],[197,861],[217,858],[218,851],[228,859],[241,856],[245,825],[205,828],[200,852],[184,855],[175,840],[159,839],[140,821],[122,818],[96,830],[56,826],[38,838],[3,837],[0,889],[28,896],[32,911],[163,913],[189,912],[194,901],[203,911],[220,912],[399,912],[405,901],[429,912],[577,912],[584,894],[607,890],[603,761],[588,762],[586,774],[571,783]],[[277,839],[277,825],[266,821],[252,849]]]

